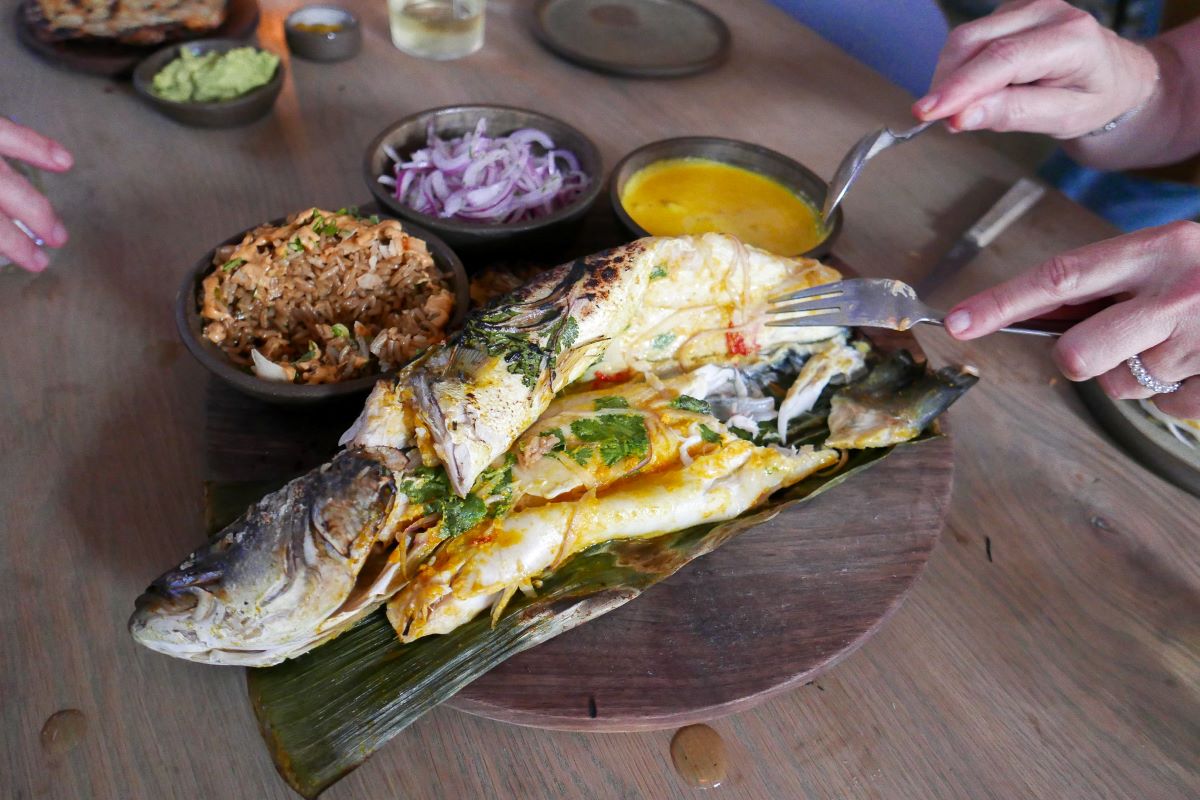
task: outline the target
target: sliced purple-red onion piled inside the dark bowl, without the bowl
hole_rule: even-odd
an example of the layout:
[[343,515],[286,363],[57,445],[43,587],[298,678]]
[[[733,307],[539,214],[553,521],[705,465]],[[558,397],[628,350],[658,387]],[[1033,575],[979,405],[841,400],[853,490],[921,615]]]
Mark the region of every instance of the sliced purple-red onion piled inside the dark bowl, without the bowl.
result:
[[522,128],[506,137],[485,136],[480,120],[467,136],[440,139],[431,125],[426,146],[402,161],[385,148],[396,198],[422,213],[473,222],[520,222],[565,206],[589,178],[569,150],[554,149],[544,131]]

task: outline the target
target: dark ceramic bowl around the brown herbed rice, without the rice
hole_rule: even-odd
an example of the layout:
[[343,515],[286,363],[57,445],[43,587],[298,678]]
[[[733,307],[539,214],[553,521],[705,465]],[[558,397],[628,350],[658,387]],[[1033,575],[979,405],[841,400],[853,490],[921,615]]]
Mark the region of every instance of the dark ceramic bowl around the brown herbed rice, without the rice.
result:
[[[277,225],[283,222],[284,219],[280,218],[272,219],[268,224]],[[455,293],[455,311],[446,327],[448,330],[456,330],[461,327],[463,319],[467,317],[468,306],[470,305],[470,287],[467,279],[467,273],[462,269],[462,261],[458,260],[458,257],[455,255],[455,252],[450,249],[444,241],[431,234],[428,230],[424,230],[418,225],[409,224],[408,222],[404,223],[404,230],[410,235],[424,240],[426,246],[430,248],[430,253],[433,255],[433,263],[437,264],[438,269],[443,272],[450,275],[451,289]],[[264,380],[257,375],[244,372],[238,365],[232,362],[216,344],[204,338],[204,320],[200,318],[200,309],[197,300],[200,291],[200,282],[214,270],[212,257],[216,254],[217,248],[240,242],[246,233],[247,231],[244,230],[234,234],[217,245],[217,247],[214,247],[205,253],[196,263],[196,266],[193,266],[187,273],[187,277],[184,278],[184,283],[179,288],[179,294],[175,295],[175,325],[179,329],[179,336],[184,339],[184,345],[187,347],[188,351],[196,356],[197,361],[208,367],[209,372],[221,380],[226,381],[234,389],[250,395],[251,397],[257,397],[258,399],[266,401],[268,403],[282,403],[287,405],[317,403],[320,401],[332,399],[335,397],[346,397],[348,395],[366,392],[374,386],[376,381],[380,378],[379,373],[364,375],[362,378],[354,378],[352,380],[343,380],[337,384],[308,385]]]

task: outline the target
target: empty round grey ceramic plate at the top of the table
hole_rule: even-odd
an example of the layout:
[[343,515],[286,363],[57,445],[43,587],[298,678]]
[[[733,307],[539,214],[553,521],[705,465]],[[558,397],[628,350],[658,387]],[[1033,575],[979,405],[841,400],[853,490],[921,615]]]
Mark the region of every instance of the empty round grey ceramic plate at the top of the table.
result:
[[534,35],[580,66],[634,78],[678,78],[719,66],[732,36],[690,0],[540,0]]

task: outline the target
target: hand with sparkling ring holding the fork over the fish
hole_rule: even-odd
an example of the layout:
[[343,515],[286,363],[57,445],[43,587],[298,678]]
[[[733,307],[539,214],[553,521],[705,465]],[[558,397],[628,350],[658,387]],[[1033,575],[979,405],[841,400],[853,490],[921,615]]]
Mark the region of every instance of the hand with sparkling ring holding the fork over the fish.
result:
[[1183,381],[1154,403],[1200,419],[1200,223],[1174,222],[1081,247],[960,302],[946,317],[952,336],[973,339],[1064,305],[1117,302],[1068,330],[1054,349],[1070,380],[1098,378],[1111,397],[1151,397],[1126,359],[1150,374]]

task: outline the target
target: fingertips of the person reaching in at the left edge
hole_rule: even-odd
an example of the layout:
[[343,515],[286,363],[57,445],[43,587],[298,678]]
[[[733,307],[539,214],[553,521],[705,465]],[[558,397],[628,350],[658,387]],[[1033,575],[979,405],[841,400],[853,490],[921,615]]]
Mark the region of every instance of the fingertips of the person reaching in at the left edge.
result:
[[[0,116],[0,156],[61,173],[74,160],[61,144]],[[50,247],[67,241],[67,230],[49,200],[16,169],[0,161],[0,254],[32,272],[46,269],[46,253],[13,222],[20,219]]]

